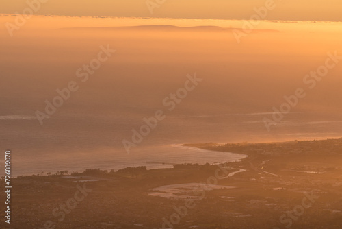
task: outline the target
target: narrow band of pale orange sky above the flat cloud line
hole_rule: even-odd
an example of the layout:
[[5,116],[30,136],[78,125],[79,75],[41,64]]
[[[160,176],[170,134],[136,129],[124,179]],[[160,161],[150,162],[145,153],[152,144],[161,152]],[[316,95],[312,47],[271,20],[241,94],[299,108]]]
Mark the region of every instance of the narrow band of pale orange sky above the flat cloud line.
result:
[[[22,13],[27,0],[2,1],[0,13]],[[29,0],[36,1],[36,0]],[[162,0],[150,0],[153,2]],[[153,14],[146,0],[49,0],[36,14],[70,16],[143,16],[192,19],[248,19],[267,0],[166,0]],[[341,0],[275,0],[268,20],[342,21]]]

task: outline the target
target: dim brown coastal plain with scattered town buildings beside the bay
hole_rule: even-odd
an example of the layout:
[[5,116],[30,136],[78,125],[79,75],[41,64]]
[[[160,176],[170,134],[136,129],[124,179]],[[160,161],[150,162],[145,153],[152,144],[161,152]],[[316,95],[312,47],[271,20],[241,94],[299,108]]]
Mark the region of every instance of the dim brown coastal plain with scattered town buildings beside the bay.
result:
[[[12,178],[11,224],[6,226],[342,228],[342,138],[186,146],[248,157],[221,165]],[[0,196],[3,200],[5,193]]]

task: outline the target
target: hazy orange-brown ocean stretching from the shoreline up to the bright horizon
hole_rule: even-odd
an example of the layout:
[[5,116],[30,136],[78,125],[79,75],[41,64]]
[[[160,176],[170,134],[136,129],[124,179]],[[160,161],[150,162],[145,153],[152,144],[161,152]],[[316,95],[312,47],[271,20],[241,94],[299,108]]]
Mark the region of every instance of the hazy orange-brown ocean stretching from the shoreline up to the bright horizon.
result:
[[[342,136],[342,65],[313,89],[303,82],[306,74],[324,64],[327,52],[342,53],[341,36],[332,36],[332,31],[323,29],[312,36],[300,29],[306,26],[302,23],[294,30],[285,23],[283,31],[259,31],[238,44],[231,32],[206,27],[62,29],[68,27],[65,20],[55,21],[52,28],[42,23],[44,29],[37,21],[34,33],[27,25],[14,38],[0,31],[0,162],[3,165],[5,150],[12,150],[14,176],[241,158],[179,147],[184,143]],[[263,29],[271,24],[276,27],[269,22]],[[97,58],[101,46],[116,52],[87,80],[79,77],[78,69]],[[187,75],[201,81],[170,110],[170,98],[185,88]],[[77,84],[77,91],[41,125],[36,112],[46,112],[46,102],[53,102],[56,90],[70,82]],[[268,131],[263,119],[272,119],[273,109],[297,88],[304,88],[306,97]],[[157,110],[165,119],[127,154],[122,141],[132,141],[133,130],[145,124],[144,118],[155,117]]]

